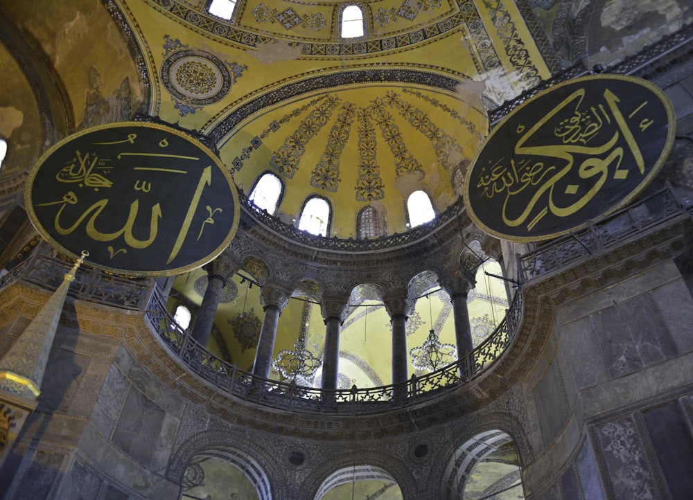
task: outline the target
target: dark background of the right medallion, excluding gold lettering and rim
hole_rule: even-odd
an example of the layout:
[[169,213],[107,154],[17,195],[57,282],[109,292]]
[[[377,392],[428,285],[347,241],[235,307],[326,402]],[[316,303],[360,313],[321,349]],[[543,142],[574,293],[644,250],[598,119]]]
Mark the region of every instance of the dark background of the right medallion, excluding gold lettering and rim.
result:
[[[647,85],[647,86],[646,86]],[[489,199],[484,195],[483,188],[477,186],[478,175],[483,166],[488,165],[489,161],[494,163],[498,159],[514,158],[516,160],[534,159],[536,161],[553,161],[556,159],[547,157],[527,157],[526,155],[515,154],[515,146],[521,136],[531,129],[539,120],[546,116],[554,107],[559,105],[565,98],[568,98],[577,89],[584,88],[586,96],[582,101],[579,109],[588,109],[590,106],[603,104],[606,105],[604,99],[604,91],[610,89],[619,99],[617,104],[622,111],[622,115],[626,118],[626,122],[631,125],[629,128],[633,132],[635,141],[638,143],[642,156],[644,157],[644,175],[640,175],[637,167],[634,165],[633,155],[626,148],[625,156],[622,161],[621,168],[629,168],[632,170],[625,180],[615,181],[613,179],[614,166],[610,167],[610,175],[604,186],[596,193],[596,195],[577,212],[567,217],[556,217],[548,213],[541,219],[532,231],[527,230],[527,224],[519,226],[508,226],[502,220],[502,205],[505,202],[505,195],[495,195]],[[629,115],[635,111],[642,102],[647,101],[647,111],[639,111],[635,114],[633,120],[629,120]],[[573,105],[569,105],[563,109],[563,113],[559,113],[548,123],[543,125],[540,130],[532,136],[532,139],[525,145],[559,145],[561,141],[554,135],[554,127],[566,118],[565,113],[574,110]],[[650,125],[644,132],[636,125],[641,118],[651,118],[654,123]],[[539,94],[532,100],[525,102],[523,106],[516,109],[512,114],[496,127],[491,135],[486,139],[482,150],[477,154],[471,171],[468,172],[466,181],[466,199],[465,204],[470,212],[474,222],[477,223],[484,231],[496,235],[500,238],[519,241],[533,241],[553,238],[555,236],[565,234],[569,231],[579,229],[580,227],[589,224],[607,213],[615,211],[617,208],[624,206],[631,201],[635,195],[640,193],[649,181],[656,175],[662,164],[664,163],[671,144],[674,139],[675,118],[671,105],[665,94],[648,84],[645,80],[638,80],[631,77],[623,77],[620,75],[599,75],[593,77],[579,78],[572,80],[567,84],[552,87],[551,89]],[[522,133],[518,133],[518,127],[524,127]],[[614,127],[610,127],[611,134],[596,139],[597,143],[603,143],[604,138],[613,135]],[[588,143],[589,145],[589,143]],[[604,157],[605,155],[601,155]],[[590,181],[585,181],[577,176],[577,169],[581,161],[587,159],[584,155],[575,155],[575,163],[571,172],[556,184],[554,188],[554,203],[559,206],[570,205],[570,196],[565,195],[565,186],[568,184],[581,184],[581,187],[574,197],[579,197],[585,193],[591,185]],[[565,166],[567,163],[558,161],[557,166]],[[638,175],[633,175],[638,171]],[[593,184],[593,183],[592,183]],[[511,207],[509,215],[519,216],[521,208],[527,206],[529,199],[536,193],[536,190],[526,189],[523,193],[511,197],[509,206]],[[541,202],[537,204],[537,208],[532,212],[527,221],[531,221],[541,208],[547,206],[548,194],[544,193]],[[512,218],[512,217],[509,217]]]

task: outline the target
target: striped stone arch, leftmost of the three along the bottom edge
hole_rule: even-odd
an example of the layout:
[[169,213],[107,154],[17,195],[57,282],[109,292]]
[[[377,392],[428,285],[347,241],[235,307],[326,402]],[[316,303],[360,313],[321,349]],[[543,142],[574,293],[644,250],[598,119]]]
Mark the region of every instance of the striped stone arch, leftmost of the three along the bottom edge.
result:
[[221,458],[237,467],[254,485],[260,500],[271,500],[277,494],[281,467],[275,462],[274,454],[248,434],[226,429],[191,436],[172,454],[166,477],[182,485],[188,465],[198,456]]

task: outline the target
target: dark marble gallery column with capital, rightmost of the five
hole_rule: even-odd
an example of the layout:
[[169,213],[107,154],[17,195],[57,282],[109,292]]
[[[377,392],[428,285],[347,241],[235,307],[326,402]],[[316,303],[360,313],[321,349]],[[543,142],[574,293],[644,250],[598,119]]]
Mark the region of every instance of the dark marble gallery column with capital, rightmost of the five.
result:
[[462,378],[466,378],[475,372],[474,346],[471,324],[469,323],[467,295],[476,282],[471,274],[465,272],[464,269],[457,269],[452,274],[439,278],[439,283],[450,294],[450,303],[453,305],[453,319],[455,321],[457,359],[463,361],[460,364],[460,370]]

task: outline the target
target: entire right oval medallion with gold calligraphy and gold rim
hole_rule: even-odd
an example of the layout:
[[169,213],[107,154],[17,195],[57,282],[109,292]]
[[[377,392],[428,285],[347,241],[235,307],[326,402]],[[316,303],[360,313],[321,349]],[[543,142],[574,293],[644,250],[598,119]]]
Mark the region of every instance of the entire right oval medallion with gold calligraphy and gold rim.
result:
[[556,85],[489,134],[466,177],[466,209],[489,234],[555,238],[628,204],[657,175],[676,117],[654,84],[594,75]]

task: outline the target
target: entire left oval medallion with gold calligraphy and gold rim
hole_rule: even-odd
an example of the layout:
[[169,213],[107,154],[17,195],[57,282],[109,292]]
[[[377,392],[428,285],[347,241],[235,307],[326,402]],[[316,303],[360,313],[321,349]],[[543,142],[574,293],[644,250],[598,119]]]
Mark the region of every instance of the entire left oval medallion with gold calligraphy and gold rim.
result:
[[238,229],[236,186],[211,150],[164,125],[123,122],[69,136],[30,172],[37,231],[119,274],[166,276],[218,256]]

